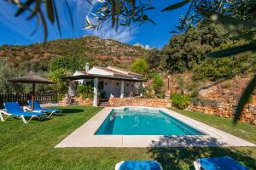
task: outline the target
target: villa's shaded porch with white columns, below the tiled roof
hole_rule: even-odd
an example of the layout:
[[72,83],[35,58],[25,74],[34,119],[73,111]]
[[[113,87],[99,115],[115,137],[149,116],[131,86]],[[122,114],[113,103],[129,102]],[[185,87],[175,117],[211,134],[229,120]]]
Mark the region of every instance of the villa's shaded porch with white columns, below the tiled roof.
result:
[[138,96],[139,88],[144,86],[143,80],[132,80],[121,77],[92,77],[91,75],[79,75],[66,77],[69,80],[68,94],[76,96],[76,88],[82,84],[92,84],[92,105],[108,105],[108,99],[128,98]]

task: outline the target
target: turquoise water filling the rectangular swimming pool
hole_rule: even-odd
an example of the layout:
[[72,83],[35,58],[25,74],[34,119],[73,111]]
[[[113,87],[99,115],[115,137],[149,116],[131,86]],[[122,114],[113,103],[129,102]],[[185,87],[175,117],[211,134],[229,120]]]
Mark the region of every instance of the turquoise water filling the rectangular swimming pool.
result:
[[204,135],[163,111],[143,108],[111,111],[95,134]]

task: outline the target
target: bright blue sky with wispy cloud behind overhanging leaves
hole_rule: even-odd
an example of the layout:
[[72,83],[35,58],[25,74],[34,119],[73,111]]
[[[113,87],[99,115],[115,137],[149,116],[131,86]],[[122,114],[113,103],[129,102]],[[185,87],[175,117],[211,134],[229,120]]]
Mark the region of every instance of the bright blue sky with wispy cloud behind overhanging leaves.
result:
[[[147,1],[147,0],[145,0]],[[179,0],[152,0],[153,6],[156,8],[152,12],[148,12],[148,16],[154,20],[156,26],[150,22],[145,22],[143,26],[132,26],[131,32],[128,27],[120,27],[116,32],[110,22],[107,22],[100,31],[84,31],[84,18],[86,15],[91,17],[90,12],[93,7],[86,3],[85,0],[69,0],[69,4],[73,11],[74,31],[70,26],[70,20],[67,14],[67,8],[62,0],[55,1],[59,8],[59,17],[61,20],[62,37],[60,37],[55,25],[48,25],[49,40],[61,38],[79,38],[86,35],[96,35],[102,38],[113,38],[120,42],[130,44],[141,43],[148,44],[151,48],[162,48],[172,37],[169,33],[175,29],[178,18],[186,13],[188,6],[178,8],[172,12],[160,12],[162,8],[177,3]],[[96,1],[95,1],[96,2]],[[36,34],[31,36],[36,20],[26,21],[27,13],[14,17],[16,7],[12,4],[0,1],[0,45],[15,44],[23,45],[35,42],[42,42],[44,39],[44,31],[39,28]]]

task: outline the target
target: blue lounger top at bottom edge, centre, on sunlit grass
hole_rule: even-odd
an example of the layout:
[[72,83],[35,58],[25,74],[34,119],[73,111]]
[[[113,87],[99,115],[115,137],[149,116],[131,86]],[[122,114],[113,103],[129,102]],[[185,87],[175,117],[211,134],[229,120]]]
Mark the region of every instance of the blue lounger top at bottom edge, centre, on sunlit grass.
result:
[[115,165],[115,170],[162,170],[157,161],[120,161]]

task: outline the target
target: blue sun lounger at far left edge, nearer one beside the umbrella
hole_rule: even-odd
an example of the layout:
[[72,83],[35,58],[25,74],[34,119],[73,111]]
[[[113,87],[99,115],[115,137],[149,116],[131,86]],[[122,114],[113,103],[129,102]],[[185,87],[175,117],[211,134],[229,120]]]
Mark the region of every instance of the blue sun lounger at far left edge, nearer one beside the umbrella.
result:
[[[32,120],[33,117],[37,117],[38,119],[42,119],[43,117],[46,117],[45,113],[39,113],[39,112],[25,112],[20,109],[20,105],[18,102],[7,102],[3,104],[5,107],[5,111],[0,111],[0,120],[2,122],[6,121],[9,116],[16,116],[18,118],[21,118],[21,120],[24,123],[28,123]],[[3,115],[6,115],[7,117],[5,120],[3,119]],[[30,117],[28,121],[26,121],[26,117]]]

